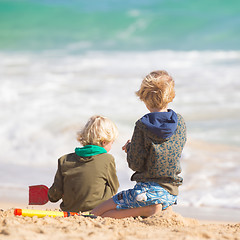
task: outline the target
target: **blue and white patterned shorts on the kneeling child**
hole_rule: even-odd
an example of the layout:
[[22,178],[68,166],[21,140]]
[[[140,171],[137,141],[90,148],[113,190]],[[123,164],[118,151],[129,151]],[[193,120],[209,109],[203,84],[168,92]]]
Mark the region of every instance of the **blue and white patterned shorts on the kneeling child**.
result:
[[145,207],[162,204],[162,209],[177,204],[177,196],[170,194],[154,182],[138,182],[133,189],[117,193],[112,197],[117,209]]

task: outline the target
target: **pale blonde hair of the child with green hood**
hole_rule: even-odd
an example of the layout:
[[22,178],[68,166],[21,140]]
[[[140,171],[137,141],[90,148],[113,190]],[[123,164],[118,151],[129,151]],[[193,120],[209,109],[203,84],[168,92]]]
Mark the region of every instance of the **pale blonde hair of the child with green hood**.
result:
[[77,140],[83,145],[97,145],[102,147],[102,142],[111,142],[117,138],[116,125],[108,118],[92,116],[84,128],[77,133]]

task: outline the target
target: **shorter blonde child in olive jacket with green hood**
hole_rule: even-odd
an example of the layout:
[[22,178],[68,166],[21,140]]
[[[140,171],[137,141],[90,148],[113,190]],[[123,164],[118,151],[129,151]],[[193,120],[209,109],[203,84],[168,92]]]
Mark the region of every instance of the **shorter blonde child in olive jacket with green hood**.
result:
[[106,117],[93,116],[78,133],[74,153],[58,160],[54,183],[48,191],[51,202],[62,198],[63,211],[89,211],[116,194],[119,187],[115,161],[108,154],[118,134]]

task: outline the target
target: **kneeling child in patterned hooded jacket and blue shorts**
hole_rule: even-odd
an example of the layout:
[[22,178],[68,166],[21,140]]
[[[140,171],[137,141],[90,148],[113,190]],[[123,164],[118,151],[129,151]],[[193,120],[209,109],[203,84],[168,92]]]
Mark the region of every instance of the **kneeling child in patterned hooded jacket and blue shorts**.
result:
[[180,114],[167,108],[175,97],[174,81],[166,71],[151,72],[136,95],[150,111],[136,122],[131,141],[123,146],[135,171],[131,180],[137,183],[93,209],[97,216],[148,217],[177,201],[186,126]]

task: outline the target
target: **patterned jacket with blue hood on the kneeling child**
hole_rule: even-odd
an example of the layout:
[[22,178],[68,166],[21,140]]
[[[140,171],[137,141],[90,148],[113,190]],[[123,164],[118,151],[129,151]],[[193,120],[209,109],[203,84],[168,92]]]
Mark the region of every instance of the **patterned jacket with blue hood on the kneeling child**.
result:
[[186,126],[174,111],[154,112],[136,122],[131,145],[128,147],[129,167],[136,171],[136,182],[155,182],[178,195],[182,184],[180,156],[186,142]]

